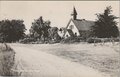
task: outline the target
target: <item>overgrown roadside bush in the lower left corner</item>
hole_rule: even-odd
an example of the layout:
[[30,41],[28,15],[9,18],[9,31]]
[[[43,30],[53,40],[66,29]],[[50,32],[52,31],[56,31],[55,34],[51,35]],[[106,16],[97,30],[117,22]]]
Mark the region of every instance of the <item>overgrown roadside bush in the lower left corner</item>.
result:
[[6,44],[0,45],[0,76],[13,76],[15,52]]

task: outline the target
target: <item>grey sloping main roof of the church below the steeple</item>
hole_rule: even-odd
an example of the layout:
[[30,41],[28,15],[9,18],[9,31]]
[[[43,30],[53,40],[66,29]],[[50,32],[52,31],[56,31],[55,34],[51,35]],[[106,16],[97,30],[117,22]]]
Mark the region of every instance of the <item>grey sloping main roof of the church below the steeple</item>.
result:
[[90,30],[91,26],[93,26],[95,24],[94,21],[88,21],[85,19],[82,19],[82,20],[80,20],[80,19],[73,20],[72,19],[72,21],[79,31]]

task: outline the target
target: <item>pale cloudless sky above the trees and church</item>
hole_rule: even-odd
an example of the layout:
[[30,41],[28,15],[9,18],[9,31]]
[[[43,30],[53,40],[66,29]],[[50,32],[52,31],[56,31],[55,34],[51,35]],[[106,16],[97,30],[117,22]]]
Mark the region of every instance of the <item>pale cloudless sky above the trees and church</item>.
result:
[[76,8],[78,19],[95,21],[97,19],[95,14],[103,13],[107,6],[112,6],[112,14],[120,17],[119,3],[119,1],[0,1],[0,20],[22,19],[28,33],[31,23],[40,16],[45,21],[50,20],[52,27],[66,27],[73,7]]

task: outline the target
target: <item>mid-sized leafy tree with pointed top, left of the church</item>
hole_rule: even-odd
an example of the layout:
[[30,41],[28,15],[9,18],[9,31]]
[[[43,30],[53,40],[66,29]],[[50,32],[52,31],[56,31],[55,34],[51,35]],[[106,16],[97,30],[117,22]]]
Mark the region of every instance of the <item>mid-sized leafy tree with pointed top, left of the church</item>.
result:
[[33,38],[41,39],[48,38],[48,29],[50,28],[50,21],[43,21],[42,16],[32,23],[30,34]]

